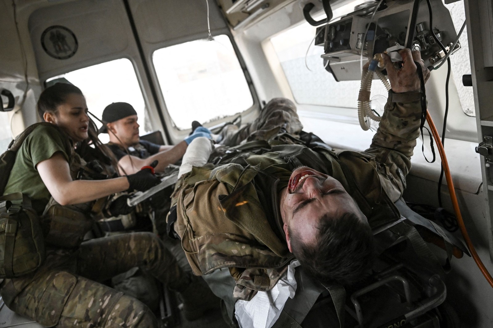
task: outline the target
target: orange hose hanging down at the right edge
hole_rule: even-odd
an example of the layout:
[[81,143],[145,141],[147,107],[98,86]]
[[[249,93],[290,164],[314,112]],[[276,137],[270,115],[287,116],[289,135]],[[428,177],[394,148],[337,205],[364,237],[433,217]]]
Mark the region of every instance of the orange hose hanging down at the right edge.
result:
[[471,255],[472,255],[472,258],[474,259],[474,262],[476,262],[476,265],[481,270],[481,273],[483,273],[486,280],[488,280],[490,285],[493,287],[493,278],[492,278],[490,272],[488,272],[488,270],[485,268],[485,265],[483,264],[483,262],[479,258],[478,253],[476,253],[476,249],[474,249],[472,241],[469,238],[469,234],[467,233],[467,230],[465,229],[464,220],[462,219],[462,215],[460,214],[459,204],[457,201],[456,189],[454,188],[454,182],[452,181],[452,176],[450,175],[450,169],[449,169],[449,163],[447,162],[447,156],[445,155],[445,150],[443,149],[443,146],[442,146],[442,143],[440,141],[440,137],[438,136],[438,132],[436,130],[435,124],[433,123],[433,120],[431,119],[431,116],[429,115],[429,113],[427,111],[426,111],[426,121],[428,122],[428,125],[431,129],[431,134],[433,135],[433,139],[435,139],[435,143],[438,147],[438,152],[440,153],[440,158],[442,159],[443,172],[445,173],[445,179],[447,179],[447,185],[449,187],[449,193],[450,193],[450,198],[452,200],[452,206],[454,207],[454,211],[456,213],[457,222],[458,222],[458,225],[460,228],[460,232],[462,233],[462,237],[465,240],[467,248],[469,248],[469,252],[471,252]]

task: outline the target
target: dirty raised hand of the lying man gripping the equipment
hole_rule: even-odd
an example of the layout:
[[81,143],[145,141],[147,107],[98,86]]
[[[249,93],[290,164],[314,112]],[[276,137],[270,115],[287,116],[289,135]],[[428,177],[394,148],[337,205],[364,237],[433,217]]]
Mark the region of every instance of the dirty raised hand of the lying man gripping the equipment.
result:
[[399,54],[402,56],[402,68],[396,68],[394,63],[390,60],[390,57],[387,54],[382,54],[392,91],[419,91],[421,89],[421,83],[414,62],[416,61],[421,65],[425,83],[430,76],[430,71],[424,66],[423,60],[421,59],[421,53],[419,51],[411,52],[410,49],[405,48],[401,49]]

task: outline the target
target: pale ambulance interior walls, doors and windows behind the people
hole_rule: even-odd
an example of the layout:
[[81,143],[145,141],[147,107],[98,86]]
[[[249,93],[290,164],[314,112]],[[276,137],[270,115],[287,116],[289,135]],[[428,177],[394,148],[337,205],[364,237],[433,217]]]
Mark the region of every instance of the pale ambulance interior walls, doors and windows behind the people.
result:
[[[451,53],[450,72],[433,33]],[[161,131],[165,144],[183,140],[192,120],[209,128],[246,123],[270,99],[286,97],[305,131],[331,147],[362,151],[378,126],[358,117],[362,63],[370,50],[411,45],[433,68],[428,112],[439,135],[446,131],[458,207],[493,272],[491,0],[1,0],[0,34],[1,152],[39,121],[41,91],[65,80],[99,118],[111,102],[131,103],[141,136]],[[381,116],[387,89],[376,75],[370,97],[371,112]],[[428,163],[424,130],[404,199],[463,239],[436,142],[434,153]],[[492,287],[475,260],[464,254],[450,266],[446,302],[460,324],[420,327],[492,327]],[[7,311],[0,311],[0,327],[38,327]]]

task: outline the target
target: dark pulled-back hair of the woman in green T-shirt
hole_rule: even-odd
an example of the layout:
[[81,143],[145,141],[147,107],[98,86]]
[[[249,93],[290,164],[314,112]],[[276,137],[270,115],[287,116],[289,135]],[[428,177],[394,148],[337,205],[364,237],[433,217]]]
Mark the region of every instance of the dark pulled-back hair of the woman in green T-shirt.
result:
[[67,100],[67,96],[72,93],[83,95],[79,88],[68,83],[55,83],[44,89],[37,101],[37,114],[44,120],[44,113],[56,113],[57,107],[63,104]]

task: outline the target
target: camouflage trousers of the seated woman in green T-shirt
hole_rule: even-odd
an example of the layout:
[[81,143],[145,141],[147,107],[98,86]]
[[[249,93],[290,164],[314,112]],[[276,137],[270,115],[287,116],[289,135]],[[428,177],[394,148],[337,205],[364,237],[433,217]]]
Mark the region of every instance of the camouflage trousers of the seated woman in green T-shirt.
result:
[[140,267],[176,291],[189,276],[152,233],[131,233],[83,242],[76,251],[50,251],[35,273],[1,284],[0,294],[16,313],[45,327],[157,327],[141,301],[98,281]]

